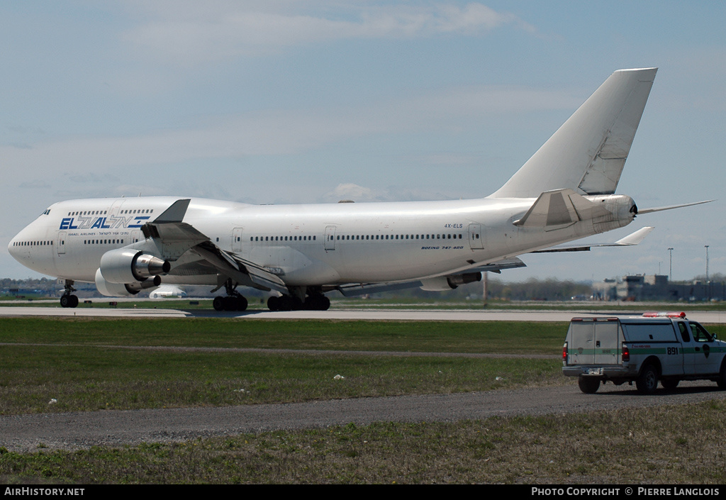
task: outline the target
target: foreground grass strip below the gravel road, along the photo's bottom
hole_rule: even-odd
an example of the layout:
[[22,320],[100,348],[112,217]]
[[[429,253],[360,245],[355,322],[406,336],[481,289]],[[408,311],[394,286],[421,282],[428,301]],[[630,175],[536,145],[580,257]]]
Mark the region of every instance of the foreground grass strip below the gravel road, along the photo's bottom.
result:
[[83,451],[0,448],[0,482],[719,485],[726,481],[724,411],[726,403],[709,401]]

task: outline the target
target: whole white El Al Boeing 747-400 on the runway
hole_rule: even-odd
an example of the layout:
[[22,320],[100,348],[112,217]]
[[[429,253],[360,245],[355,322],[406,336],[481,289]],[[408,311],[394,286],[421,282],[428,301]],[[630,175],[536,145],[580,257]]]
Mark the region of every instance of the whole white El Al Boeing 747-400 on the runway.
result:
[[[76,281],[96,283],[110,297],[161,283],[211,285],[226,292],[214,299],[216,310],[245,310],[240,286],[272,291],[270,310],[327,310],[325,294],[334,290],[454,289],[482,271],[524,266],[522,254],[589,249],[556,246],[635,219],[635,201],[614,193],[656,69],[613,73],[486,198],[284,206],[171,196],[61,201],[8,249],[26,267],[65,280],[63,307],[78,305]],[[676,206],[640,213],[669,208]],[[612,244],[637,244],[650,229]]]

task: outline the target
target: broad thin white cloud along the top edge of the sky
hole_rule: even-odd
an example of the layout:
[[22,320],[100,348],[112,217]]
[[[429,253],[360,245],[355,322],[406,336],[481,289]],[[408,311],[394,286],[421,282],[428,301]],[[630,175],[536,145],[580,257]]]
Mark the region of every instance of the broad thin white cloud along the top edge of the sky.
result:
[[[208,8],[208,4],[211,4]],[[240,55],[277,52],[286,47],[346,39],[413,39],[446,33],[476,35],[505,25],[536,29],[483,4],[375,6],[363,4],[237,4],[180,1],[132,3],[154,20],[131,28],[123,40],[145,57],[197,65]],[[165,7],[166,6],[166,7]],[[293,12],[297,10],[298,12]],[[283,12],[284,11],[284,12]]]

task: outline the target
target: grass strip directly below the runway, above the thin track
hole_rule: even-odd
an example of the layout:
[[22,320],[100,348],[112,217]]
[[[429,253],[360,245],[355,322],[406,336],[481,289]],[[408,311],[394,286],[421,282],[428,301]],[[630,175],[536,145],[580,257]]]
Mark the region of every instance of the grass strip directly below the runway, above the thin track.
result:
[[0,318],[0,342],[559,355],[567,323]]

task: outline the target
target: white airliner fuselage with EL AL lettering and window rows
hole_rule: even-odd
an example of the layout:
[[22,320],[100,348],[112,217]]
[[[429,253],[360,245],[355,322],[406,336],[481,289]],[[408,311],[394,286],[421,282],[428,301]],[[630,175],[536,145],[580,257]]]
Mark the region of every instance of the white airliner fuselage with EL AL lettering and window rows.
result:
[[[630,199],[590,198],[603,198],[608,206],[624,205],[619,198]],[[38,273],[93,282],[107,251],[129,245],[140,248],[144,244],[141,227],[178,199],[55,203],[13,238],[9,251]],[[481,198],[256,206],[192,198],[184,222],[220,249],[279,275],[287,286],[320,286],[460,273],[621,227],[633,218],[627,210],[613,209],[611,220],[587,219],[548,230],[513,225],[534,201]],[[216,285],[218,278],[216,271],[189,252],[171,262],[163,283]]]

